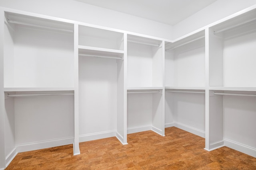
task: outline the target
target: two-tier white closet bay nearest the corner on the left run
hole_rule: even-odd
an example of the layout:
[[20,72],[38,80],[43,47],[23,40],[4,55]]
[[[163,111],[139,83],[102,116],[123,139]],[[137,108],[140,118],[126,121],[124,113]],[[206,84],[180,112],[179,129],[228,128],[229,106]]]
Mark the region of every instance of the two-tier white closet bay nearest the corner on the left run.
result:
[[164,136],[164,42],[127,35],[128,133],[153,130]]

